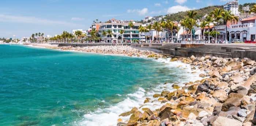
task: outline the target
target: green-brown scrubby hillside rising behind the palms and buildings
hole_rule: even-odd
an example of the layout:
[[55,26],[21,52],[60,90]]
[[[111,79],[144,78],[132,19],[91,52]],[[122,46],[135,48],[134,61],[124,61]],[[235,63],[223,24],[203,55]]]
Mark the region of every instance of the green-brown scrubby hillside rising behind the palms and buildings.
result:
[[[205,8],[201,8],[201,9],[195,9],[194,11],[197,12],[196,19],[200,19],[204,15],[209,14],[215,8],[223,8],[223,6],[209,6],[209,7],[205,7]],[[165,19],[172,20],[172,21],[180,21],[180,20],[184,19],[186,16],[187,16],[187,11],[169,14],[165,17]]]

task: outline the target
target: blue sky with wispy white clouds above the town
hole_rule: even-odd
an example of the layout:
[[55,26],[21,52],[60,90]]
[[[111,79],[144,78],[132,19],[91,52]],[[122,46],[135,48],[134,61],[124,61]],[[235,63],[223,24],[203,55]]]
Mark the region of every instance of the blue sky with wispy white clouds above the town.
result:
[[[54,36],[72,29],[90,28],[94,20],[143,20],[228,0],[0,0],[0,37]],[[240,0],[240,4],[254,0]]]

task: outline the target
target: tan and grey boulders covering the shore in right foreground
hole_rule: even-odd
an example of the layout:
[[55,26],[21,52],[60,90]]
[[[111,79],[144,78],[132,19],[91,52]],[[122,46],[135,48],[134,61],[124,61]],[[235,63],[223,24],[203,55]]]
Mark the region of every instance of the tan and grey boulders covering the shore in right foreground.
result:
[[[154,57],[154,56],[153,56]],[[174,92],[154,94],[158,102],[168,102],[159,109],[134,107],[119,117],[117,126],[254,126],[256,125],[256,63],[244,58],[211,56],[172,58],[208,71],[203,80],[188,82]],[[146,98],[144,103],[156,102]],[[171,103],[170,103],[171,102]],[[142,108],[142,109],[141,109]],[[142,110],[142,111],[140,111]]]

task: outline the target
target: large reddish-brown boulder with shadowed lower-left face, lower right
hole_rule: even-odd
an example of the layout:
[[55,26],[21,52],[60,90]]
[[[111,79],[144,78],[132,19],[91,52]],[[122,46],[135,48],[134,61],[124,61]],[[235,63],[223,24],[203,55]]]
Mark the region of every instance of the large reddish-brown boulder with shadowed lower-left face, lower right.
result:
[[239,98],[229,98],[222,105],[222,111],[228,111],[230,107],[238,107],[241,104],[241,99]]

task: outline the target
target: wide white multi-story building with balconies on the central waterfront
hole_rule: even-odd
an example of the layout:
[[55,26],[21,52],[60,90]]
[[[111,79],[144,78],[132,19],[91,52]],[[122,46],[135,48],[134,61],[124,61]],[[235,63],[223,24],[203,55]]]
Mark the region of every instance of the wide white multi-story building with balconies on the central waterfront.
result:
[[[102,41],[105,42],[121,42],[122,38],[124,41],[129,42],[130,40],[140,40],[139,26],[141,23],[136,23],[133,21],[133,27],[129,27],[127,21],[119,21],[116,19],[111,19],[108,23],[99,23],[98,34],[102,38]],[[102,32],[112,31],[113,35],[107,34],[106,36],[102,35]],[[124,34],[120,34],[120,31],[124,30]]]

